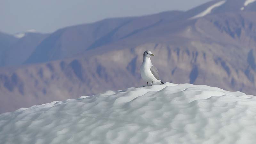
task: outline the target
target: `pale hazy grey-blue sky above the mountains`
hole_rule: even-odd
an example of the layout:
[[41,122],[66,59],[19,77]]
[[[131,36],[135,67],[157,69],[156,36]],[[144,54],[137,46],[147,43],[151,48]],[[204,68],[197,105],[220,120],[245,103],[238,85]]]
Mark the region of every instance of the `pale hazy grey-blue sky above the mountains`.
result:
[[48,33],[111,17],[188,10],[211,0],[0,0],[0,31]]

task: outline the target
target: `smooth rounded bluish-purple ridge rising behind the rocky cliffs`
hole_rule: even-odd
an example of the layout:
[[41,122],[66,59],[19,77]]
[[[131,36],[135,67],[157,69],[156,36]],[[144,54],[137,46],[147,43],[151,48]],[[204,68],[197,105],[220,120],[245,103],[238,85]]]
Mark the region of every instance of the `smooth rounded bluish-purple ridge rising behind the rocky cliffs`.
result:
[[171,20],[180,11],[163,12],[142,17],[114,18],[60,29],[47,37],[25,62],[38,63],[75,57],[102,45],[122,40]]

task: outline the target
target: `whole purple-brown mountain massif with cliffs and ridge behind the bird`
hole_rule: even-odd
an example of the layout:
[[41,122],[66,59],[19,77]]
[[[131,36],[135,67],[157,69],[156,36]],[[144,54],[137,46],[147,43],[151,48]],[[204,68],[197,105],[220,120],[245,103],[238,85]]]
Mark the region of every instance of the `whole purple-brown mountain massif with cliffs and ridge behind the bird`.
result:
[[187,12],[57,30],[25,65],[0,68],[0,112],[146,84],[139,71],[145,50],[156,55],[151,60],[165,82],[255,95],[255,3],[211,1]]

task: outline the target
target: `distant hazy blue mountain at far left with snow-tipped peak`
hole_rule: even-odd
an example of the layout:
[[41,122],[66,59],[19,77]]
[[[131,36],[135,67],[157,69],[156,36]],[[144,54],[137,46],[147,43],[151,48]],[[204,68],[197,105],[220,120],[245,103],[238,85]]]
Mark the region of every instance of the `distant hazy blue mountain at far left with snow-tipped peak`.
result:
[[48,34],[38,32],[18,33],[15,36],[2,34],[0,36],[1,67],[20,66],[35,51]]

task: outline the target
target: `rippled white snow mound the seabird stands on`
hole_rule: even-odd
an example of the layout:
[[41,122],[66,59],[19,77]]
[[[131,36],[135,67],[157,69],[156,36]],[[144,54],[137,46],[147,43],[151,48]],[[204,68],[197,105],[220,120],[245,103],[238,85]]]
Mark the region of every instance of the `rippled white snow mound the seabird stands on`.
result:
[[107,91],[0,115],[1,144],[256,143],[256,98],[206,85]]

